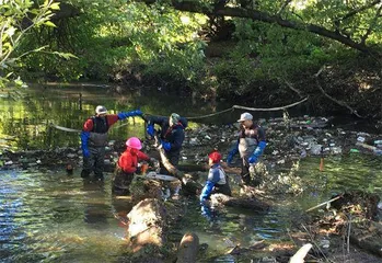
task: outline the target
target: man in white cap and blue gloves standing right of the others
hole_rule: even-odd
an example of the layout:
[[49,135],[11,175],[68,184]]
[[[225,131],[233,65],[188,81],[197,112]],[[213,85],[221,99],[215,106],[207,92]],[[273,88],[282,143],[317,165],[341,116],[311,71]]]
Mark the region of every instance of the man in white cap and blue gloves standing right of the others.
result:
[[267,146],[265,130],[254,123],[251,113],[243,113],[238,122],[240,123],[239,138],[228,155],[227,163],[230,165],[233,157],[239,152],[242,159],[241,176],[243,183],[258,186],[261,182],[253,181],[251,173],[254,173],[254,165]]

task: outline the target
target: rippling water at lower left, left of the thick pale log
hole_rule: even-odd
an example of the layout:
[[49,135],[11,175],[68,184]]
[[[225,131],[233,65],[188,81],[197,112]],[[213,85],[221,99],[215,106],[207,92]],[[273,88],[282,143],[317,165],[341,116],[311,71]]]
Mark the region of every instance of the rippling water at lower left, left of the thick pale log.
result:
[[79,174],[1,171],[0,261],[113,262],[125,228],[111,213],[109,187]]

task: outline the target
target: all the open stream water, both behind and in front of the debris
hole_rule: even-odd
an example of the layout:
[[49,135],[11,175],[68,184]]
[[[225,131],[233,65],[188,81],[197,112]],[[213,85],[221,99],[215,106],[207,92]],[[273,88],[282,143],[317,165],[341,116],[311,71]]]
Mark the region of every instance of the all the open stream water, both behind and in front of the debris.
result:
[[[193,103],[159,91],[116,95],[103,88],[83,85],[32,87],[1,96],[0,150],[79,147],[78,134],[50,129],[48,124],[80,129],[97,104],[106,105],[111,112],[140,106],[144,113],[177,112],[183,116],[231,106],[223,102]],[[205,122],[229,123],[238,114]],[[111,130],[111,139],[131,135],[143,137],[142,124]],[[297,174],[306,182],[304,194],[285,198],[264,214],[228,208],[211,219],[200,215],[196,199],[189,199],[185,218],[172,240],[180,241],[185,231],[195,231],[200,243],[208,244],[200,262],[239,262],[235,258],[215,256],[236,243],[250,247],[264,239],[288,240],[286,229],[296,215],[334,193],[364,190],[382,197],[381,157],[329,157],[325,159],[324,172],[319,171],[316,158],[306,158],[300,162]],[[127,199],[112,198],[109,175],[104,183],[85,183],[78,172],[68,176],[63,171],[0,171],[0,262],[121,262],[127,252],[125,226],[115,215],[126,214],[131,206]]]

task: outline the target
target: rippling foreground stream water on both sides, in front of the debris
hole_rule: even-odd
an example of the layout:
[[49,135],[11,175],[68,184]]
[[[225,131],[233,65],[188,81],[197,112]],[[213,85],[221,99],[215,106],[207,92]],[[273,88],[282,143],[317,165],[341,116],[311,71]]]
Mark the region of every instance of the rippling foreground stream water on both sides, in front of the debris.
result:
[[[316,164],[315,158],[301,162],[299,175],[308,182],[305,194],[285,198],[266,213],[230,207],[206,218],[198,202],[190,199],[170,240],[178,242],[184,232],[194,231],[200,243],[208,244],[200,262],[227,262],[230,259],[215,256],[232,245],[288,240],[292,219],[332,194],[363,188],[382,196],[377,158],[331,158],[324,172]],[[120,262],[128,252],[126,229],[114,215],[124,215],[131,206],[127,199],[112,197],[109,175],[104,183],[84,183],[78,173],[1,171],[1,262]]]

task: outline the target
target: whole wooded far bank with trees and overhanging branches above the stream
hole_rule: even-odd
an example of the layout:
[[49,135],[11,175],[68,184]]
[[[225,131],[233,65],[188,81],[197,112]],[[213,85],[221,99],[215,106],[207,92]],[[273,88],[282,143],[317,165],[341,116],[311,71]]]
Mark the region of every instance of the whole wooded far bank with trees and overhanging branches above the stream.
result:
[[382,118],[381,0],[0,0],[0,84],[99,81]]

